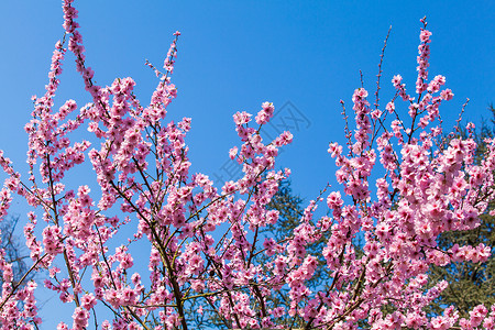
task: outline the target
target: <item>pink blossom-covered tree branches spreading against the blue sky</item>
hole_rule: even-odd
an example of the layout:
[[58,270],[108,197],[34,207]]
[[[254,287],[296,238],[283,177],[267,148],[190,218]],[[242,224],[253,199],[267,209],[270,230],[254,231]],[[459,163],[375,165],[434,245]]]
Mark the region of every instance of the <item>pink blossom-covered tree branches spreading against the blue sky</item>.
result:
[[[370,329],[494,329],[494,307],[477,306],[469,319],[459,318],[453,307],[435,317],[425,312],[447,288],[440,282],[426,289],[430,265],[483,263],[491,252],[483,244],[442,251],[437,238],[476,228],[495,194],[494,141],[487,141],[481,164],[474,161],[472,136],[436,146],[442,133],[439,107],[453,94],[443,88],[443,76],[428,81],[431,33],[425,21],[417,96],[406,92],[399,75],[392,80],[408,118],[399,119],[396,97],[386,111],[377,103],[372,110],[369,92],[356,89],[355,130],[350,133],[348,128],[348,152],[338,143],[328,150],[343,188],[328,195],[323,190],[309,202],[293,233],[276,240],[264,231],[279,217],[268,205],[290,170],[275,170],[275,158],[293,135],[262,138],[263,125],[275,113],[273,103],[262,103],[254,121],[248,112],[233,116],[241,144],[229,156],[242,165],[243,176],[216,185],[206,174],[190,172],[186,135],[191,120],[165,122],[177,96],[169,75],[180,33],[174,34],[165,74],[148,64],[160,81],[143,107],[131,78],[94,85],[75,21],[78,12],[72,0],[64,0],[63,10],[67,50],[76,56],[92,103],[77,111],[76,102],[68,100],[54,109],[67,51],[58,42],[46,92],[33,98],[32,120],[25,127],[26,182],[0,152],[8,176],[0,191],[0,217],[7,215],[12,195],[29,202],[29,272],[48,271],[44,286],[61,302],[74,305],[72,329],[96,322],[101,329],[185,330],[200,318],[219,320],[226,328],[280,328],[287,316],[300,319],[306,329],[358,329],[363,323]],[[396,119],[388,123],[389,114]],[[85,122],[90,139],[73,142],[70,133],[82,131]],[[66,175],[87,160],[96,184],[64,184]],[[317,217],[323,200],[328,215]],[[362,251],[356,250],[359,238]],[[324,245],[323,265],[308,252],[315,242]],[[148,254],[144,263],[143,253]],[[311,290],[308,282],[322,268],[331,278]],[[0,271],[0,324],[37,328],[36,284],[14,283],[3,252]],[[288,301],[278,306],[274,297],[283,290]],[[96,317],[101,311],[107,319]],[[61,321],[57,329],[69,326]]]

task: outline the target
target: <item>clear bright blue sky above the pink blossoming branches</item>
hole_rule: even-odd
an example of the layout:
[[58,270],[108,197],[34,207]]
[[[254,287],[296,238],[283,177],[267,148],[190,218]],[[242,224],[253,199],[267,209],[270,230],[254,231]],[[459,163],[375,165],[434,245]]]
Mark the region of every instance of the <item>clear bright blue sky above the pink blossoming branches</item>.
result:
[[[195,170],[222,174],[228,151],[239,140],[232,114],[256,112],[263,101],[287,101],[305,118],[293,130],[279,166],[293,169],[293,187],[314,198],[334,182],[330,141],[342,142],[339,100],[348,105],[360,87],[373,91],[383,40],[393,26],[383,65],[383,106],[402,74],[409,90],[416,79],[419,19],[432,31],[430,75],[442,74],[454,99],[441,108],[452,127],[466,98],[465,119],[480,122],[495,101],[494,1],[76,1],[87,64],[99,85],[133,77],[145,102],[156,85],[145,67],[161,65],[179,30],[173,81],[178,98],[169,118],[193,118],[188,135]],[[62,37],[61,1],[0,3],[0,148],[22,168],[32,95],[42,95],[50,58]],[[89,101],[73,57],[64,64],[58,105]],[[404,105],[403,105],[404,106]],[[287,108],[288,109],[288,108]],[[285,110],[286,116],[289,110]],[[351,107],[349,107],[351,109]],[[404,110],[404,109],[403,109]],[[300,119],[301,117],[299,117]],[[270,132],[268,132],[270,133]],[[18,210],[22,212],[22,210]],[[51,329],[48,323],[43,329]]]

